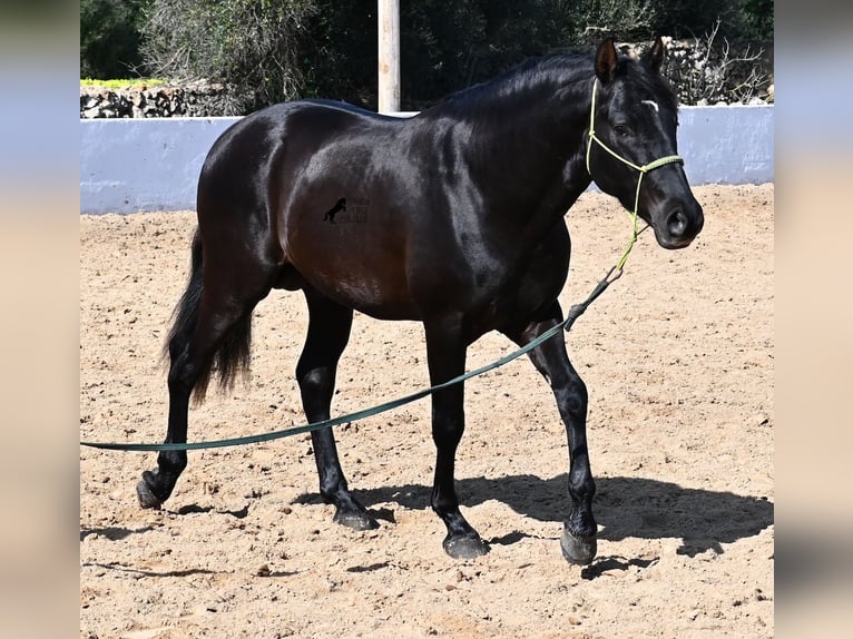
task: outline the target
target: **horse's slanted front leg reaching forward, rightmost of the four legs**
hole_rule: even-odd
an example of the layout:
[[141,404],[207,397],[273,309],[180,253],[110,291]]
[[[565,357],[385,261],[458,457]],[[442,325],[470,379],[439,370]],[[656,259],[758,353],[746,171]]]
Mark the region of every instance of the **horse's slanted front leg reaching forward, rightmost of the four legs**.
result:
[[[506,334],[519,345],[528,344],[562,321],[559,303],[518,331]],[[551,385],[569,441],[569,497],[571,513],[563,522],[560,547],[571,563],[589,563],[596,556],[596,520],[592,495],[596,483],[587,450],[587,387],[566,353],[563,333],[555,335],[530,352],[530,360]]]

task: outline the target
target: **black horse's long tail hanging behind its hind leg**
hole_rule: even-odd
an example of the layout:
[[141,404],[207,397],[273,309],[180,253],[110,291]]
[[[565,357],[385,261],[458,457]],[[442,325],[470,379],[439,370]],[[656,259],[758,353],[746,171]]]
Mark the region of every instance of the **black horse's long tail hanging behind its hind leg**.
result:
[[[198,318],[198,309],[204,294],[204,263],[202,236],[196,228],[193,236],[192,265],[189,282],[171,315],[171,327],[164,346],[164,357],[174,363],[189,343]],[[202,364],[193,386],[193,400],[196,404],[204,401],[210,377],[216,372],[223,390],[229,390],[238,374],[247,375],[252,355],[252,314],[246,314],[234,323],[216,348],[213,357]]]

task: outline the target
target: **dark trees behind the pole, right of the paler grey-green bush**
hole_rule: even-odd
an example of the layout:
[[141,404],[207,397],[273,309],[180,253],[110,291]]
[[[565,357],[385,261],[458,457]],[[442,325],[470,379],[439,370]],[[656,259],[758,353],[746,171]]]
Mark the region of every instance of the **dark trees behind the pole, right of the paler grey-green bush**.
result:
[[[720,45],[772,41],[772,10],[773,0],[404,1],[402,108],[423,108],[524,58],[589,48],[608,36],[643,42],[658,35],[707,39],[714,32]],[[300,57],[306,95],[375,108],[375,0],[322,0],[308,32]]]

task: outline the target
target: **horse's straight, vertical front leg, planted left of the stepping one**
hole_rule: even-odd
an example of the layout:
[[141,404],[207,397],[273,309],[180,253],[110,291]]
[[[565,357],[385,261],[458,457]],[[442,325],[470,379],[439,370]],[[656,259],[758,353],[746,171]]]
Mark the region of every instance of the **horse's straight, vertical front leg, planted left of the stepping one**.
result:
[[[424,323],[426,358],[432,385],[447,382],[464,373],[465,348],[459,323],[455,321]],[[459,511],[454,485],[455,454],[464,432],[464,389],[454,384],[432,395],[432,439],[435,442],[435,476],[432,484],[432,510],[448,529],[442,545],[454,559],[472,559],[489,552]]]

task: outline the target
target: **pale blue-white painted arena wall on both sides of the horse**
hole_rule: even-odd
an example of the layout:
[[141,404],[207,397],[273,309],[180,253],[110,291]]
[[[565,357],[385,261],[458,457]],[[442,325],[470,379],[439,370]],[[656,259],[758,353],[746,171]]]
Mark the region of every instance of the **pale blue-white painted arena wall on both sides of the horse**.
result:
[[[80,213],[195,209],[216,138],[239,118],[80,120]],[[773,107],[682,107],[679,153],[700,184],[773,181]]]

